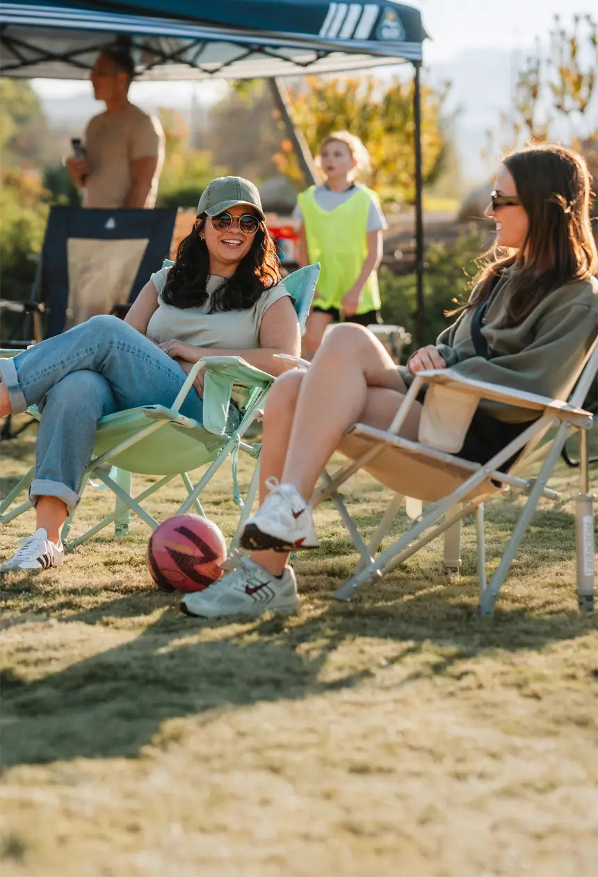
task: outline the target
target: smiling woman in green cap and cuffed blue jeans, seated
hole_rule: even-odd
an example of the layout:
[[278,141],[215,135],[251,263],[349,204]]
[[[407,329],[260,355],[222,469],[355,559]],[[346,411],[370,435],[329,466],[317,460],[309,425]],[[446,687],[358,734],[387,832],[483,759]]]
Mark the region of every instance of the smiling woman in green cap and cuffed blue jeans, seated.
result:
[[[30,487],[37,529],[0,572],[62,563],[60,528],[79,503],[100,417],[172,405],[193,364],[216,351],[270,374],[284,371],[274,354],[297,355],[300,333],[280,278],[256,187],[220,177],[201,196],[176,261],[145,284],[124,322],[91,317],[0,360],[0,416],[34,404],[42,412]],[[201,422],[202,395],[200,373],[181,413]],[[231,425],[240,418],[232,404]]]

